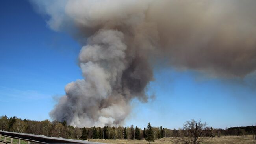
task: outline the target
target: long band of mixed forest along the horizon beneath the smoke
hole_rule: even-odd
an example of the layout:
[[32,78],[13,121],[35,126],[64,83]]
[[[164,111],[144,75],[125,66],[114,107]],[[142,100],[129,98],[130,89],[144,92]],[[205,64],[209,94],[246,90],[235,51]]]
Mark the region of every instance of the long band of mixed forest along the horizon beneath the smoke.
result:
[[[139,128],[137,126],[128,127],[84,127],[77,128],[67,126],[66,122],[58,122],[44,120],[32,121],[27,119],[20,119],[17,117],[0,117],[0,130],[12,131],[20,133],[31,133],[36,135],[45,135],[50,137],[63,137],[69,139],[145,139],[147,128]],[[256,126],[246,127],[232,127],[226,129],[215,129],[212,127],[205,127],[204,137],[220,137],[222,135],[250,135],[256,131]],[[154,139],[163,137],[182,137],[186,135],[186,130],[167,129],[160,127],[152,127],[152,135]]]

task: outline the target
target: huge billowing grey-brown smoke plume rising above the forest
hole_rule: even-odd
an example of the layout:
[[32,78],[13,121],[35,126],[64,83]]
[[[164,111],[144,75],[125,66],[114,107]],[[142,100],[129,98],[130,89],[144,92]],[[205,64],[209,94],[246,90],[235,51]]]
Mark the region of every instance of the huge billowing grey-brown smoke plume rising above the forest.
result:
[[48,25],[82,45],[84,79],[50,112],[73,126],[122,124],[133,98],[147,102],[152,67],[244,77],[256,69],[255,0],[32,1]]

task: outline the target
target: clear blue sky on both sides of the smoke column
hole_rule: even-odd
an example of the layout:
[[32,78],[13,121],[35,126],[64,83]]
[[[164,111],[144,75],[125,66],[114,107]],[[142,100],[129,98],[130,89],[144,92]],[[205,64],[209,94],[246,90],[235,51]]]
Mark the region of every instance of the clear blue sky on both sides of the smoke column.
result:
[[[50,119],[67,83],[82,79],[77,65],[81,45],[52,31],[45,16],[26,0],[0,2],[0,115]],[[226,128],[256,123],[254,76],[217,79],[195,71],[154,69],[148,103],[132,101],[125,125],[179,128],[190,119]]]

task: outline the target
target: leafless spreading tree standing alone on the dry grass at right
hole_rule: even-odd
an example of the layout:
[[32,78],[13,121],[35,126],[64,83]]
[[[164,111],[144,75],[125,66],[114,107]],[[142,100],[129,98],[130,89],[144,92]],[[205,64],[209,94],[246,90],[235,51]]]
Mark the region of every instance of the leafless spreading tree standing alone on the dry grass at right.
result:
[[185,130],[186,137],[180,137],[178,140],[184,144],[199,144],[202,142],[202,139],[198,138],[203,135],[206,125],[206,122],[202,123],[201,120],[195,121],[195,119],[185,122],[183,129]]

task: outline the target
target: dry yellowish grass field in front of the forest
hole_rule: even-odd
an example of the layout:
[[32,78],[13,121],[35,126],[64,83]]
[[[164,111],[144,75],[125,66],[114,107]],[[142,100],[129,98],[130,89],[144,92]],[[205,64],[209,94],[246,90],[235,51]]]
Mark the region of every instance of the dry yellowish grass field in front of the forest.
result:
[[[148,144],[143,140],[104,140],[104,139],[89,139],[91,142],[102,142],[109,144]],[[202,144],[253,144],[252,135],[246,135],[245,138],[239,136],[222,136],[220,138],[203,138]],[[156,139],[151,144],[179,144],[174,138]]]

